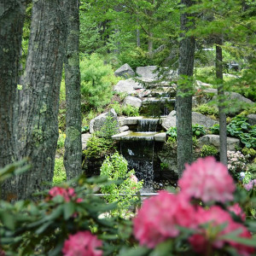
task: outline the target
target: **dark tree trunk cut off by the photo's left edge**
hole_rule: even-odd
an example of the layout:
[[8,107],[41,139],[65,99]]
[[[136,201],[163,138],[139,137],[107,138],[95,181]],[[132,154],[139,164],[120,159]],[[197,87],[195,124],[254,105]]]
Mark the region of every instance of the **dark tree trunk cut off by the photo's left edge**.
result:
[[[25,13],[26,1],[0,0],[0,168],[15,160],[14,105]],[[11,196],[10,182],[2,189],[4,199]]]

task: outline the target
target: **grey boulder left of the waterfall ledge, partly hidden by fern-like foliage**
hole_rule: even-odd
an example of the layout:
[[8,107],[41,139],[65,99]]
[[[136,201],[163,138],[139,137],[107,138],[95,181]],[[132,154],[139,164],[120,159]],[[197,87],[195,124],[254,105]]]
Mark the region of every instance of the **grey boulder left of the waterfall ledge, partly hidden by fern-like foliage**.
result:
[[111,108],[109,112],[102,113],[98,115],[95,119],[90,120],[90,133],[93,133],[95,131],[100,131],[102,126],[105,124],[108,115],[110,115],[113,118],[113,121],[115,120],[117,123],[116,130],[119,132],[119,123],[117,119],[117,114],[115,113],[114,109]]

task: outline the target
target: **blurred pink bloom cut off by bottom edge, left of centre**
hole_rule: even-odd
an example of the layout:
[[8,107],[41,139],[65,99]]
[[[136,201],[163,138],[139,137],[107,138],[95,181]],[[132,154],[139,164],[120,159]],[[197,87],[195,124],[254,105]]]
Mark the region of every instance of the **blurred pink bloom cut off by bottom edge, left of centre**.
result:
[[102,256],[102,250],[97,247],[102,247],[101,240],[98,240],[90,231],[80,231],[68,236],[62,253],[64,256]]

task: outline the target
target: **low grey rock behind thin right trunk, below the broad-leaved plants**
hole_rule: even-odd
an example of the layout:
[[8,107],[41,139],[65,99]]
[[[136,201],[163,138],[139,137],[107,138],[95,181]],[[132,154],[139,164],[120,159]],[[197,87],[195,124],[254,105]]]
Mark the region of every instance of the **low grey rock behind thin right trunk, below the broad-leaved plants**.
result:
[[[227,149],[235,151],[236,147],[239,147],[240,140],[235,137],[227,137]],[[219,135],[208,134],[198,139],[198,147],[203,145],[211,145],[219,150]]]

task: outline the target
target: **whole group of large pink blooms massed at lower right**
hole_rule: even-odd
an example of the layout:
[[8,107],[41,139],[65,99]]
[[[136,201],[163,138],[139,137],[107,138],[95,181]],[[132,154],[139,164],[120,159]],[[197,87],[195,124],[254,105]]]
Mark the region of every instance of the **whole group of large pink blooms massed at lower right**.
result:
[[190,202],[192,198],[204,202],[233,199],[232,193],[236,187],[224,165],[212,157],[199,159],[186,166],[178,184],[181,191],[177,195],[162,191],[143,202],[143,207],[133,220],[133,233],[141,245],[154,248],[161,241],[177,237],[180,233],[177,226],[181,226],[194,230],[189,243],[196,253],[204,254],[209,247],[222,248],[225,244],[235,247],[242,256],[253,253],[253,247],[222,237],[234,230],[241,230],[237,236],[252,237],[245,226],[231,218],[230,212],[234,212],[242,220],[245,219],[245,213],[238,204],[229,207],[228,212],[218,206],[205,209]]

